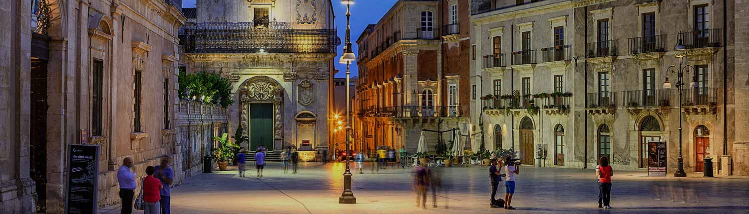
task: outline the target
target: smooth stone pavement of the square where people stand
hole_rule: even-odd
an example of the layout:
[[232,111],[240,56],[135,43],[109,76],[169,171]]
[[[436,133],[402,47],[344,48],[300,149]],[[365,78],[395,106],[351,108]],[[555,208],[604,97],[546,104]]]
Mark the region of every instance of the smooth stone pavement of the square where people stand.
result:
[[[353,169],[355,165],[351,166]],[[748,177],[647,177],[644,171],[614,169],[614,209],[602,210],[597,208],[598,186],[592,169],[521,166],[512,201],[518,210],[503,210],[489,207],[491,189],[486,167],[434,168],[442,174],[446,191],[438,193],[437,208],[431,207],[430,192],[427,208],[422,209],[416,207],[416,197],[410,189],[411,169],[385,169],[372,174],[369,167],[365,166],[366,174],[352,171],[357,204],[338,204],[343,189],[343,163],[300,163],[299,174],[283,174],[280,163],[268,163],[262,178],[252,176],[254,169],[248,177],[238,177],[233,169],[186,180],[172,189],[172,212],[749,213]],[[674,194],[676,198],[671,201]],[[504,196],[502,185],[497,195]],[[661,200],[656,200],[656,195],[661,195]],[[682,203],[682,198],[686,198],[686,203]],[[109,213],[117,212],[115,209]]]

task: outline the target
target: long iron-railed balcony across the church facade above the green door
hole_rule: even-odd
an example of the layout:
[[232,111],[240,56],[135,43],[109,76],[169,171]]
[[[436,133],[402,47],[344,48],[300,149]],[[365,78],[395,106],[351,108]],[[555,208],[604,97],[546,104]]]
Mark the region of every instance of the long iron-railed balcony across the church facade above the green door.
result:
[[[267,27],[266,27],[267,26]],[[327,53],[341,39],[336,29],[293,29],[286,22],[198,23],[184,29],[185,53]]]

